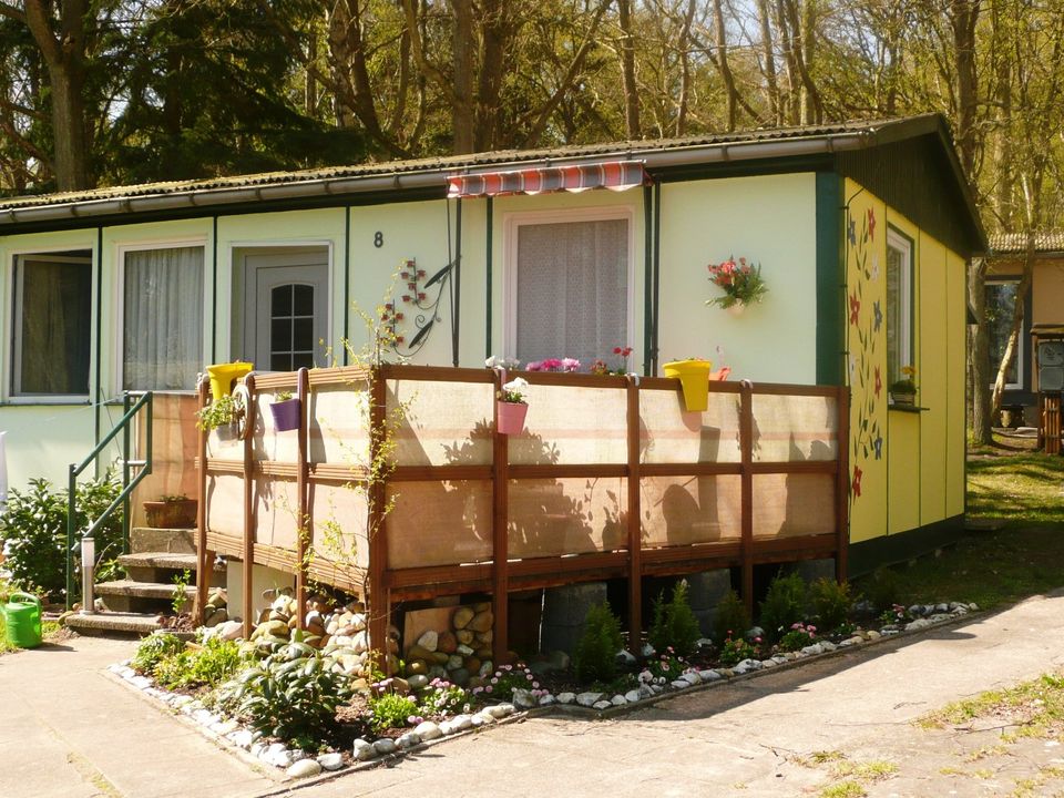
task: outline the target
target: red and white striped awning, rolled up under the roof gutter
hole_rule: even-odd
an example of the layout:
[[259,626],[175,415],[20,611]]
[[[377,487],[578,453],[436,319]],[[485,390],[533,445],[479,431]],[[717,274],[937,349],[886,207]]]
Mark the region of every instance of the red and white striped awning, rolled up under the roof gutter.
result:
[[447,178],[447,196],[478,197],[543,192],[582,192],[589,188],[625,191],[646,182],[640,161],[611,161],[579,166],[543,166],[513,172],[482,172]]

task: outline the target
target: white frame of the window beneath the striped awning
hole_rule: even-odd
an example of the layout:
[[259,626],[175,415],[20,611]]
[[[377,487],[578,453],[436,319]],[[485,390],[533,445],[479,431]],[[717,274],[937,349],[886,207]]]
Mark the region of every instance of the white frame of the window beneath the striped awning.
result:
[[[503,273],[503,354],[514,357],[518,350],[518,237],[520,228],[525,225],[570,224],[577,222],[612,222],[624,219],[628,226],[626,244],[627,296],[625,297],[625,326],[631,340],[618,341],[620,346],[635,346],[635,208],[631,205],[600,205],[579,208],[551,208],[544,211],[514,211],[503,217],[503,234],[505,236],[505,255]],[[491,297],[489,297],[491,300]],[[603,357],[608,352],[603,352]],[[559,352],[556,357],[566,357]],[[587,364],[582,364],[586,366]]]

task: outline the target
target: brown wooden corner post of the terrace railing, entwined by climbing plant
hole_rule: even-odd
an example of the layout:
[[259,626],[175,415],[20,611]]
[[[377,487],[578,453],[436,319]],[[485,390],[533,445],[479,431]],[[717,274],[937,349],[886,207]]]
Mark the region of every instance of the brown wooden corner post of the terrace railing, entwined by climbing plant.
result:
[[388,665],[388,616],[391,612],[388,601],[388,589],[385,585],[388,572],[388,542],[387,516],[385,504],[388,497],[388,485],[383,479],[378,462],[381,450],[382,436],[388,434],[388,382],[382,369],[375,366],[370,372],[370,407],[369,407],[369,472],[367,478],[367,499],[369,500],[369,518],[366,533],[369,538],[369,591],[364,596],[369,621],[369,647],[378,657],[385,674],[390,673]]

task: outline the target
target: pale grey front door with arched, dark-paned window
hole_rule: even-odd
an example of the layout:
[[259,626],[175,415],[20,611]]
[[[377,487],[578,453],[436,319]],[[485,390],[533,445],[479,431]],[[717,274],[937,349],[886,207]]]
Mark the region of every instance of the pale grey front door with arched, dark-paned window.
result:
[[244,357],[258,371],[327,366],[326,248],[250,252],[244,258]]

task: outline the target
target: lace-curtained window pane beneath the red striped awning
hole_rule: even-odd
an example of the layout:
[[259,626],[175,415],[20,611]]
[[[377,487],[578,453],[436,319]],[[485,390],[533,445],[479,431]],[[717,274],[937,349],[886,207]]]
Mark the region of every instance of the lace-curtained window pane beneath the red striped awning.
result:
[[628,221],[516,227],[516,351],[586,367],[628,340]]

